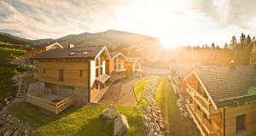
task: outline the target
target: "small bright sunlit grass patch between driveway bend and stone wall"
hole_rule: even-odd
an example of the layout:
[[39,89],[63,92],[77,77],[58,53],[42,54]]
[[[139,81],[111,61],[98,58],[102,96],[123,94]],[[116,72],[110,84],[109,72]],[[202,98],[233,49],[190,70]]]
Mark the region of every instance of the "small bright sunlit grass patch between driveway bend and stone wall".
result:
[[150,83],[150,80],[150,78],[145,78],[141,81],[136,82],[136,84],[134,85],[133,90],[141,107],[147,104],[146,99],[143,98],[143,88]]

